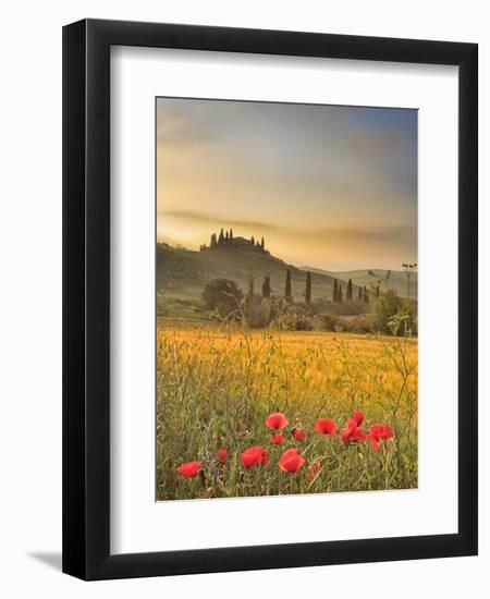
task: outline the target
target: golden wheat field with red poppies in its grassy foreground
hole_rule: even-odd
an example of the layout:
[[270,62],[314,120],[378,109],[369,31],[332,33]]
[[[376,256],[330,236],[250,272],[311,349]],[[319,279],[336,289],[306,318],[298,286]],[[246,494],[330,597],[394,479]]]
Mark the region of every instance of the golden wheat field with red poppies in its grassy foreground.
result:
[[159,500],[416,486],[416,339],[157,330]]

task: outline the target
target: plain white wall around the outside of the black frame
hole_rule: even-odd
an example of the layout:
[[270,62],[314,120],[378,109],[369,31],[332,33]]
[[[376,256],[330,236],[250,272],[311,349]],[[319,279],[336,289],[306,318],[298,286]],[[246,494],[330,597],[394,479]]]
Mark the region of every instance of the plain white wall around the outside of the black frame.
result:
[[[490,566],[490,19],[483,0],[71,0],[2,11],[0,94],[0,594],[303,597],[488,586]],[[61,563],[61,26],[123,19],[475,41],[480,45],[480,555],[174,578],[82,583]],[[441,423],[443,426],[443,423]],[[403,517],[403,515],[401,515]],[[376,590],[375,590],[376,587]]]

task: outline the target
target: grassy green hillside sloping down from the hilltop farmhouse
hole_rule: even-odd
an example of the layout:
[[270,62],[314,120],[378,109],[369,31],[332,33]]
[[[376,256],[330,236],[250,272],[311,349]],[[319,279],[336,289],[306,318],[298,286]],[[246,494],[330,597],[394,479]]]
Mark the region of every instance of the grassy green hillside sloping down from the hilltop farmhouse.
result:
[[[305,270],[284,262],[260,246],[243,243],[240,237],[232,244],[200,252],[157,244],[157,293],[181,300],[199,298],[206,283],[217,278],[231,279],[245,292],[250,274],[256,293],[260,293],[264,277],[269,274],[272,295],[282,295],[287,269],[291,271],[293,297],[301,301]],[[331,300],[333,279],[327,272],[311,271],[313,298]],[[346,285],[344,292],[345,289]]]

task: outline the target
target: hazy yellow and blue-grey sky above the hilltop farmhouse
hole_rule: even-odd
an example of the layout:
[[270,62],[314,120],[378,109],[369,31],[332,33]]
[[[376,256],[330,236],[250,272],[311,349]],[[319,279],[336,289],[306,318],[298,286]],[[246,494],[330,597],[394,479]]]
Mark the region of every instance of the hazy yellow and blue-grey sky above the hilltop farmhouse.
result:
[[265,237],[326,270],[417,261],[417,111],[157,99],[157,240]]

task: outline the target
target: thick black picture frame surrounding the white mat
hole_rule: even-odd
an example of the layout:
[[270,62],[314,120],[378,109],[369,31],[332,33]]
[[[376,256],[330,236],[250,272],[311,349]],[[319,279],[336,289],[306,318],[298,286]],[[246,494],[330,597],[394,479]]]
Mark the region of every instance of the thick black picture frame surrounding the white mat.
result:
[[[110,48],[138,46],[458,66],[458,531],[110,553]],[[84,20],[63,28],[63,572],[83,579],[477,554],[478,47]]]

